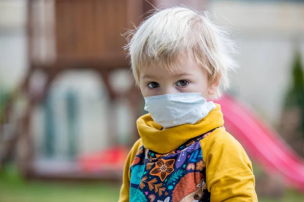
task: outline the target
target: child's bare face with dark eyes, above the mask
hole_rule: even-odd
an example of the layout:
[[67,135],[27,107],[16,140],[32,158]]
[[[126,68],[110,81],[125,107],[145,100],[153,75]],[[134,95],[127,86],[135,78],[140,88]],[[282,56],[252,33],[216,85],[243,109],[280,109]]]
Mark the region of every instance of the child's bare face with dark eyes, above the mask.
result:
[[216,92],[218,82],[208,82],[208,72],[188,55],[180,57],[174,72],[161,67],[148,67],[139,74],[139,87],[144,97],[180,92],[201,92],[207,98]]

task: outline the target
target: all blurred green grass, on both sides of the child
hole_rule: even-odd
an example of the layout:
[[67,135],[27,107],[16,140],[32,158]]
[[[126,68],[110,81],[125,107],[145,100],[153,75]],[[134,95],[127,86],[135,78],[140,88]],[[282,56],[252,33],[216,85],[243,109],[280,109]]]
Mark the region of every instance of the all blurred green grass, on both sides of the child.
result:
[[[0,202],[114,202],[119,185],[107,183],[25,182],[14,169],[0,174]],[[262,198],[260,202],[302,202],[304,196],[287,190],[283,198]]]

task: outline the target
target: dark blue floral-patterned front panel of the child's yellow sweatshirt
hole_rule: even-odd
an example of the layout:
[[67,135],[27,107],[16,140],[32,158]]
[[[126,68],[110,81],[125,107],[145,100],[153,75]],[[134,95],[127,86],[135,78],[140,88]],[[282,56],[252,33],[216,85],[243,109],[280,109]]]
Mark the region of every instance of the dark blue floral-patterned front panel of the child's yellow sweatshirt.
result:
[[210,201],[199,140],[212,131],[168,154],[157,154],[141,146],[130,168],[130,201]]

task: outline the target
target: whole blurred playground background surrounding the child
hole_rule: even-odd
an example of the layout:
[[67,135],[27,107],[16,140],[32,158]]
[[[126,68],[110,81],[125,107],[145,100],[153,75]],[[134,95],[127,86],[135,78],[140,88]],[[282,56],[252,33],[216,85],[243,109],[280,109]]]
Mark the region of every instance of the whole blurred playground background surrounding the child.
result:
[[1,202],[118,200],[145,113],[121,34],[152,5],[181,4],[215,14],[237,43],[232,104],[218,102],[237,111],[223,109],[259,201],[304,201],[304,1],[1,0]]

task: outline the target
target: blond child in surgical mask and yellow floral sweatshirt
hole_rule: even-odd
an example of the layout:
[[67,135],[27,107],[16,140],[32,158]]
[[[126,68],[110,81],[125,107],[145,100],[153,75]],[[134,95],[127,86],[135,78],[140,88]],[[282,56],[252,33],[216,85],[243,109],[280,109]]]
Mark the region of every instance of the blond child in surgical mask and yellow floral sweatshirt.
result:
[[227,34],[175,7],[145,20],[126,48],[149,114],[137,120],[119,201],[257,201],[245,150],[205,99],[236,67]]

